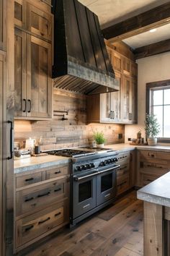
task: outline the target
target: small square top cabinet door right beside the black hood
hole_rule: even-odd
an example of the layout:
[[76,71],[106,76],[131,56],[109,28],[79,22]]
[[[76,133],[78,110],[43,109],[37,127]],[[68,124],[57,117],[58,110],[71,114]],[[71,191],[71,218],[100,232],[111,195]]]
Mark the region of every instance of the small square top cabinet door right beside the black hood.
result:
[[27,4],[27,30],[42,38],[51,40],[52,16]]

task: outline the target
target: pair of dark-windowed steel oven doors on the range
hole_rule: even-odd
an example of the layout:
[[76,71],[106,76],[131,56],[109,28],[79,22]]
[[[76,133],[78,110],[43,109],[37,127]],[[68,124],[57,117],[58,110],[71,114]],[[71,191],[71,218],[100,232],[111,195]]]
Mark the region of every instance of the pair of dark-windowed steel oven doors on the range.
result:
[[73,176],[73,219],[116,196],[116,170],[105,167]]

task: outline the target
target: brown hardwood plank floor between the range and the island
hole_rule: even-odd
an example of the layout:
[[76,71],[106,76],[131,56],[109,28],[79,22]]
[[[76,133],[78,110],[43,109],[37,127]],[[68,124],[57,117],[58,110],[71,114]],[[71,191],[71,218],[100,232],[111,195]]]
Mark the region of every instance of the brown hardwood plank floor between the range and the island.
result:
[[27,256],[141,256],[143,202],[136,192],[105,208],[76,229],[64,229]]

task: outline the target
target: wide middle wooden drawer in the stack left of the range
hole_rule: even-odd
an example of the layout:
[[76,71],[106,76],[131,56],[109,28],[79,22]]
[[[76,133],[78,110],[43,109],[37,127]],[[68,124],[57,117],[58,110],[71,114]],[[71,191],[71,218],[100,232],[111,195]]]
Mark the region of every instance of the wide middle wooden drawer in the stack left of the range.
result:
[[35,212],[35,210],[48,206],[51,202],[67,197],[68,192],[69,183],[66,178],[20,190],[16,195],[16,214],[20,216],[24,213]]

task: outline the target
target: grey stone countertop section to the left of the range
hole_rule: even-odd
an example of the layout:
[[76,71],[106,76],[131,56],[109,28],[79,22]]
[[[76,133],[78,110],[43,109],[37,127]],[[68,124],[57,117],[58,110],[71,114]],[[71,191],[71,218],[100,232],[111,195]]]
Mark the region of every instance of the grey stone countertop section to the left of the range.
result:
[[19,174],[24,171],[32,171],[37,168],[46,168],[49,166],[55,166],[59,164],[69,163],[70,158],[66,158],[58,155],[43,155],[32,156],[30,158],[24,158],[14,161],[14,174]]

